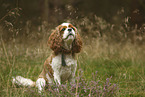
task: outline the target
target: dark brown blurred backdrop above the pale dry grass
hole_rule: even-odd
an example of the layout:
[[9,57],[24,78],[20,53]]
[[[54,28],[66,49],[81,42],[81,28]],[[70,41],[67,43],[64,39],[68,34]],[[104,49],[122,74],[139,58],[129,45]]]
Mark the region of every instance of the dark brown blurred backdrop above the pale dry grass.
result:
[[[127,31],[126,35],[120,32],[124,37],[132,38],[134,42],[137,34],[138,39],[143,40],[145,0],[0,0],[0,36],[5,41],[28,37],[33,32],[43,33],[62,22],[72,22],[83,31],[83,35],[91,34],[93,37],[115,32],[122,26]],[[92,24],[92,29],[86,27]],[[108,24],[108,29],[113,27],[113,31],[106,32],[106,28],[101,27],[108,27]],[[135,32],[131,31],[133,27]]]

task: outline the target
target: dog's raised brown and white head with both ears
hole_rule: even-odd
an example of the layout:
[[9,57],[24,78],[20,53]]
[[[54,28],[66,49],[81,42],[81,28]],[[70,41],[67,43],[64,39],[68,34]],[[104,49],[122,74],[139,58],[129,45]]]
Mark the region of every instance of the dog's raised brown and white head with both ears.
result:
[[51,33],[48,44],[58,53],[79,53],[82,48],[82,40],[76,27],[70,23],[62,23]]

